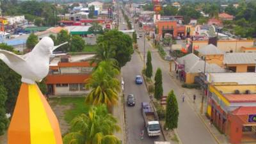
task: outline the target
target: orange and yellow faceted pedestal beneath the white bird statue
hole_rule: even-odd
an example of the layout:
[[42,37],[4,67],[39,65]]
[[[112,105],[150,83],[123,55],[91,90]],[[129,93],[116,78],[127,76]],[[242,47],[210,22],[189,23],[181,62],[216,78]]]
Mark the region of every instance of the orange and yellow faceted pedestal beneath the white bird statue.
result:
[[8,144],[62,144],[58,120],[36,84],[20,87]]

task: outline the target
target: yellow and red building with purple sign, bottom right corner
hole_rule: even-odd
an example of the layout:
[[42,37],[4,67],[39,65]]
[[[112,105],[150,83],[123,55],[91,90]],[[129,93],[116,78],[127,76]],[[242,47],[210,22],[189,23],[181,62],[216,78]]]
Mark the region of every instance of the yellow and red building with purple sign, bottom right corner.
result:
[[208,83],[207,115],[214,125],[230,143],[255,142],[256,73],[209,74]]

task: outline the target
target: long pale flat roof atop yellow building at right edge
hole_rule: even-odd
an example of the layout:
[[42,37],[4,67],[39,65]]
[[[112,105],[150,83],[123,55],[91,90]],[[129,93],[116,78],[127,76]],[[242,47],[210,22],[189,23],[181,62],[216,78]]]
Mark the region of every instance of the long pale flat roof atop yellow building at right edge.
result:
[[210,83],[256,84],[255,72],[211,73]]

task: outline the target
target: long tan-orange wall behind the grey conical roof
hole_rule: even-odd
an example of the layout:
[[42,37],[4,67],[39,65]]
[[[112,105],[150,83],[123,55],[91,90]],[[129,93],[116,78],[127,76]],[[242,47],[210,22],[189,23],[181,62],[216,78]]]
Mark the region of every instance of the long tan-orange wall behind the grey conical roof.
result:
[[[198,49],[200,49],[200,47],[205,47],[206,45],[208,45],[207,40],[193,41],[193,47],[198,46]],[[230,52],[231,50],[233,52],[243,52],[241,47],[252,46],[253,40],[218,40],[217,44],[217,47],[223,52]]]

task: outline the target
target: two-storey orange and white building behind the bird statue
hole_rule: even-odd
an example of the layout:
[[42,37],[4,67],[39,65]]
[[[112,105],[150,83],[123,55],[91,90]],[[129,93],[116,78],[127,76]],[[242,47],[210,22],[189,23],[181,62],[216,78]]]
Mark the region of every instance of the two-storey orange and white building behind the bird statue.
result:
[[54,58],[46,77],[50,95],[81,95],[88,93],[84,85],[95,65],[90,65],[94,54],[65,55]]

